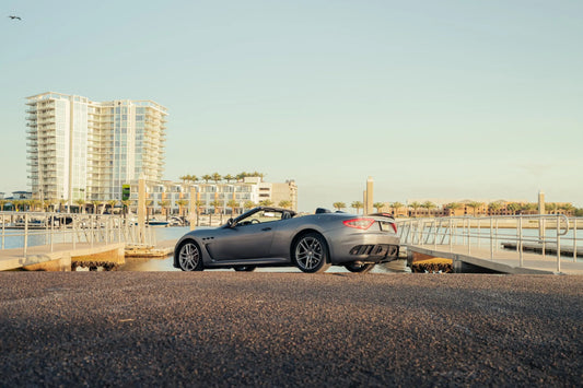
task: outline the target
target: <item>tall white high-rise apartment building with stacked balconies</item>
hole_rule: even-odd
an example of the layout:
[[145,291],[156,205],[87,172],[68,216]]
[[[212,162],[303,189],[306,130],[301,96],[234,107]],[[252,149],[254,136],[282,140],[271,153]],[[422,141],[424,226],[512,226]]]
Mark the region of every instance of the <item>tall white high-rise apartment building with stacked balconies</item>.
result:
[[121,187],[164,172],[167,109],[151,101],[26,98],[28,176],[44,200],[120,200]]

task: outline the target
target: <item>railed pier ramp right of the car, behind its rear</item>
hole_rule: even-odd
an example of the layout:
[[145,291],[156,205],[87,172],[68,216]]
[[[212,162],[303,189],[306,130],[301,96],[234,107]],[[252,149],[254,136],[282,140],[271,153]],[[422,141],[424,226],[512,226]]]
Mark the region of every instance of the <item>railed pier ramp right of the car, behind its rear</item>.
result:
[[409,266],[443,258],[453,272],[513,274],[583,274],[582,224],[564,215],[397,220]]

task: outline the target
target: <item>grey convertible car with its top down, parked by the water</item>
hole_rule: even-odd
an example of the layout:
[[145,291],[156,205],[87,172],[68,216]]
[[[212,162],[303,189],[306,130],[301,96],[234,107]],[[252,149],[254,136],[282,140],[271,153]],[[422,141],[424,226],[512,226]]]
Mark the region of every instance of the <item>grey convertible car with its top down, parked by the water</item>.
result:
[[317,209],[299,216],[288,209],[259,207],[211,230],[191,231],[174,248],[174,267],[183,271],[295,266],[324,272],[343,266],[368,272],[397,258],[399,237],[389,214],[354,215]]

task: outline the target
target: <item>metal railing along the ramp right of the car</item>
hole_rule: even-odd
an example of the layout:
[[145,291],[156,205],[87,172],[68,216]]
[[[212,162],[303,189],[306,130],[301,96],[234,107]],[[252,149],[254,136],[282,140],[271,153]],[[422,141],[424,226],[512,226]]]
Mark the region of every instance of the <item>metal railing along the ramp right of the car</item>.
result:
[[396,224],[404,245],[433,245],[434,249],[447,247],[450,252],[454,245],[462,245],[467,248],[468,255],[473,247],[487,247],[491,260],[502,244],[515,245],[520,267],[524,264],[526,249],[536,248],[543,257],[548,251],[556,251],[558,272],[565,251],[573,261],[576,261],[578,249],[583,252],[583,238],[578,237],[578,226],[583,225],[583,219],[563,214],[397,219]]

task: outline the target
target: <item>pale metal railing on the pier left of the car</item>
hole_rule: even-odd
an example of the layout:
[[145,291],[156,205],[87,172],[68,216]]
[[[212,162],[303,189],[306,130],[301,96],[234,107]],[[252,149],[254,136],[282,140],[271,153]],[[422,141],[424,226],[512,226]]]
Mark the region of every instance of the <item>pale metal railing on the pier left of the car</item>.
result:
[[137,225],[121,215],[45,212],[0,212],[1,249],[77,244],[155,245],[153,227]]

